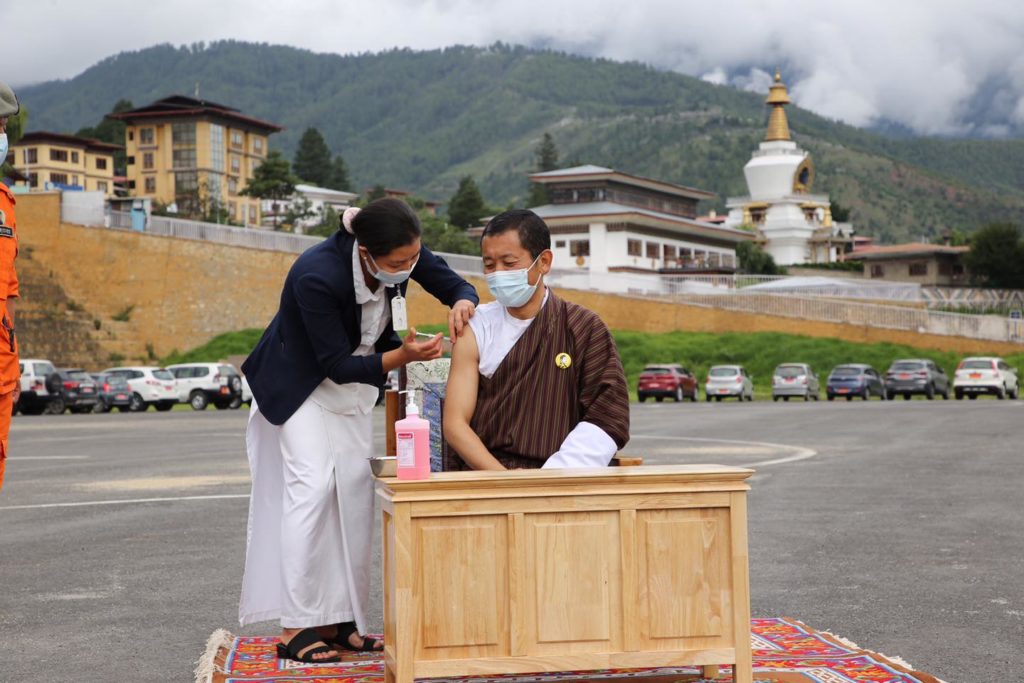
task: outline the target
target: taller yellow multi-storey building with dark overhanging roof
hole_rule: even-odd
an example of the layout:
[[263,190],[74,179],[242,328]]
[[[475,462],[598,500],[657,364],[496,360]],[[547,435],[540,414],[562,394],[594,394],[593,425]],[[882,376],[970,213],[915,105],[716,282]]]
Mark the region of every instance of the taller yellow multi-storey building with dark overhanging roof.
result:
[[259,200],[241,193],[263,163],[267,137],[281,126],[203,99],[171,95],[129,112],[124,121],[128,191],[183,215],[221,208],[231,220],[258,225]]

